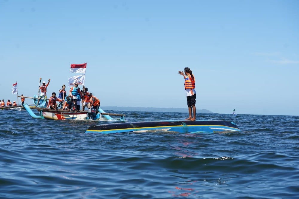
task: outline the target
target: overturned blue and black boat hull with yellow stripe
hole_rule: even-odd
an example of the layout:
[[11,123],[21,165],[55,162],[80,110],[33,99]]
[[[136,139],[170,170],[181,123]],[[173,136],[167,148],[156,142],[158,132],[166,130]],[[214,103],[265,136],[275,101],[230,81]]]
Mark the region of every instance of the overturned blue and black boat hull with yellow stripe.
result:
[[237,132],[240,129],[236,124],[220,120],[196,120],[196,121],[143,121],[125,122],[114,124],[92,125],[86,133],[123,133],[123,132],[148,132],[154,130],[175,131],[179,133],[219,133]]

